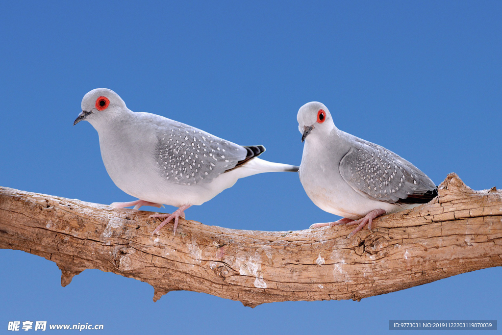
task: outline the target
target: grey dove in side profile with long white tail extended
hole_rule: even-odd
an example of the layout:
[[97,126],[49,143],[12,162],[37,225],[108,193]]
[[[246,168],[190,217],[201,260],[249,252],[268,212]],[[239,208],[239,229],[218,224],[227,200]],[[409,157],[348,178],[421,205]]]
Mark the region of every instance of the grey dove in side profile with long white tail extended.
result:
[[99,135],[101,158],[110,178],[138,200],[114,202],[115,208],[163,204],[178,207],[154,230],[158,233],[193,205],[201,205],[235,184],[263,172],[297,172],[298,166],[258,158],[265,147],[240,146],[168,118],[135,113],[114,91],[96,88],[82,99],[73,125],[89,122]]

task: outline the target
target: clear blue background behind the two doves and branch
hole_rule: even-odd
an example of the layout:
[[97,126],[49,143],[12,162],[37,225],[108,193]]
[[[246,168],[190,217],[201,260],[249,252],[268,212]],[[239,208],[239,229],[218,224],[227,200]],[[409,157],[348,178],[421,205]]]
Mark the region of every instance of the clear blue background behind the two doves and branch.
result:
[[[400,154],[436,184],[456,172],[473,189],[502,187],[501,60],[499,1],[3,2],[0,185],[133,200],[108,177],[96,131],[72,127],[83,95],[108,87],[132,110],[263,144],[264,159],[291,164],[303,148],[298,108],[321,101],[339,129]],[[336,218],[293,173],[241,179],[187,217],[274,231]],[[389,319],[501,321],[501,274],[251,309],[184,291],[154,303],[148,284],[98,270],[62,288],[55,263],[0,250],[0,333],[11,320],[102,323],[100,333],[383,333]]]

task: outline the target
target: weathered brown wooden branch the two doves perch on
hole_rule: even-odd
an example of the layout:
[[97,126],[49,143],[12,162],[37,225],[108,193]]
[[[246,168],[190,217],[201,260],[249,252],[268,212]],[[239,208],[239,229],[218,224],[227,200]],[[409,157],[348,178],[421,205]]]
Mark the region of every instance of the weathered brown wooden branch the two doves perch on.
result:
[[[359,300],[502,265],[502,192],[473,191],[450,174],[428,204],[353,227],[259,232],[180,219],[151,236],[150,212],[0,187],[0,248],[57,263],[61,284],[85,269],[139,279],[154,300],[172,290],[256,306]],[[308,226],[312,222],[306,222]]]

